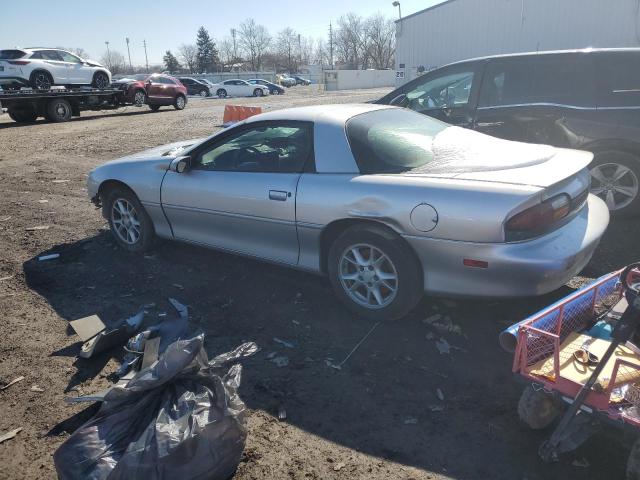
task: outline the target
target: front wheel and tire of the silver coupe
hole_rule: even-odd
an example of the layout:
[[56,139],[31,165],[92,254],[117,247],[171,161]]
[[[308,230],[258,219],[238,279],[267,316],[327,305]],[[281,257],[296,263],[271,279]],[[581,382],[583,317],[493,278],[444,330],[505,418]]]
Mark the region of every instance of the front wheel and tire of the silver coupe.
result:
[[102,203],[111,234],[121,248],[142,253],[154,246],[156,234],[151,218],[131,190],[112,188],[106,192]]

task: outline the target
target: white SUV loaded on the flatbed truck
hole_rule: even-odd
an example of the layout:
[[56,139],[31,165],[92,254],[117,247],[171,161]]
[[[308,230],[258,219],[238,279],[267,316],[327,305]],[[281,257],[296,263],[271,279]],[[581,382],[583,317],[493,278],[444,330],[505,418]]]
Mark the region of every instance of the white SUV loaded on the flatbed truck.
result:
[[108,88],[111,72],[97,62],[58,48],[0,50],[0,87],[49,90],[52,85]]

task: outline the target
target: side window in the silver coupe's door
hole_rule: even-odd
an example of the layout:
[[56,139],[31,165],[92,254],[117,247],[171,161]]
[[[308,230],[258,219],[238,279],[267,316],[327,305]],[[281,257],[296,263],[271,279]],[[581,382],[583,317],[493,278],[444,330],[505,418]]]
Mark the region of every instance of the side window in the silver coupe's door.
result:
[[313,151],[312,126],[271,123],[243,129],[196,154],[194,169],[224,172],[299,173]]

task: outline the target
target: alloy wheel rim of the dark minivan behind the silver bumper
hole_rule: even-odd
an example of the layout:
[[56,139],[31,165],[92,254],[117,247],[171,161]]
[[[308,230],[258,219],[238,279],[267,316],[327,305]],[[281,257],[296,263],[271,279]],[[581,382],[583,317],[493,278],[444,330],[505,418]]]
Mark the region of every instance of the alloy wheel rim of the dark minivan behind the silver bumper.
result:
[[603,163],[591,169],[591,193],[603,199],[609,210],[627,207],[636,199],[638,191],[638,177],[625,165]]

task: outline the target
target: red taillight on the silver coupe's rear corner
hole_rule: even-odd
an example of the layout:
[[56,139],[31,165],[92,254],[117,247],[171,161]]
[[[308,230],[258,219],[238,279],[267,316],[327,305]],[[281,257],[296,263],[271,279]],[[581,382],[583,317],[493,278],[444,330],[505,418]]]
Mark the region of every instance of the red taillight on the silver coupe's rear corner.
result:
[[511,217],[505,224],[506,240],[526,240],[549,231],[571,212],[571,197],[556,195]]

